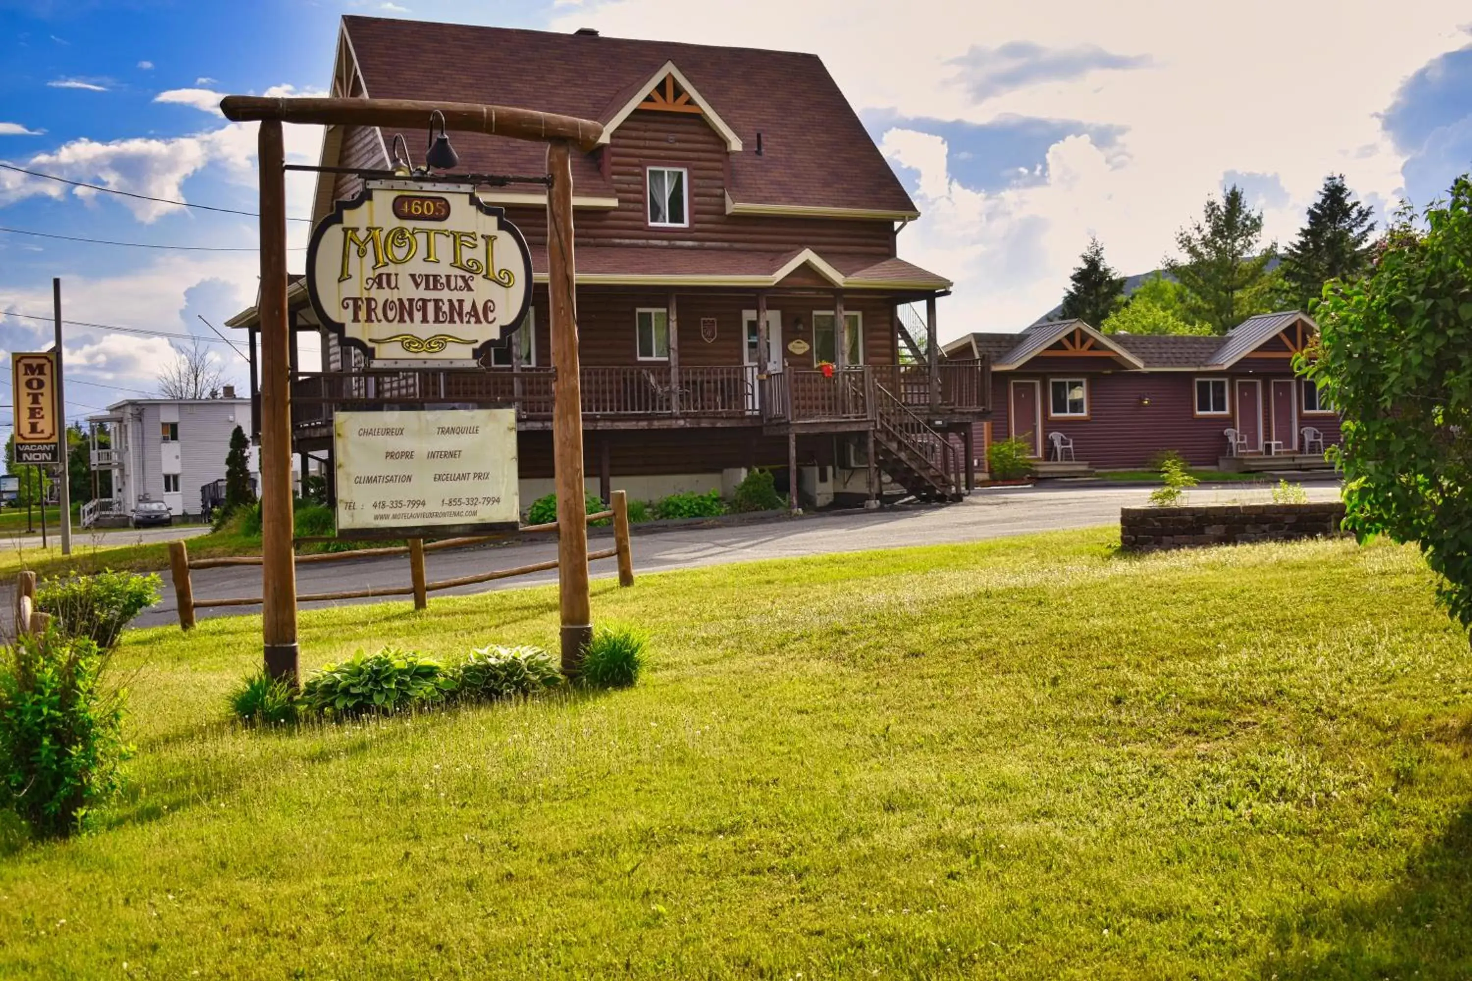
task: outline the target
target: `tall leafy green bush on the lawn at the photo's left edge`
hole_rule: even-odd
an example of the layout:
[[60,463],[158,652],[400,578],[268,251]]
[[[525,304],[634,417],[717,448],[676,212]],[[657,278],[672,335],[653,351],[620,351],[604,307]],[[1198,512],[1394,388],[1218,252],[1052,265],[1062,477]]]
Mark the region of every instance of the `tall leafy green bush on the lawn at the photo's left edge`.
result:
[[0,799],[40,835],[85,828],[122,787],[122,693],[106,653],[54,627],[0,652]]

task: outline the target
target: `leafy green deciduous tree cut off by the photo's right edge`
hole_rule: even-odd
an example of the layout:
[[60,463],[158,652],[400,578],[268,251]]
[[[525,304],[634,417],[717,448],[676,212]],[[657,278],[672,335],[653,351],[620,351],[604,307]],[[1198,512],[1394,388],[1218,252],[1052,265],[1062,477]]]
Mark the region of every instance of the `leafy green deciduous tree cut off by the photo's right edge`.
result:
[[1325,291],[1300,368],[1344,415],[1345,525],[1419,544],[1472,628],[1472,179],[1422,219],[1398,215],[1375,266]]

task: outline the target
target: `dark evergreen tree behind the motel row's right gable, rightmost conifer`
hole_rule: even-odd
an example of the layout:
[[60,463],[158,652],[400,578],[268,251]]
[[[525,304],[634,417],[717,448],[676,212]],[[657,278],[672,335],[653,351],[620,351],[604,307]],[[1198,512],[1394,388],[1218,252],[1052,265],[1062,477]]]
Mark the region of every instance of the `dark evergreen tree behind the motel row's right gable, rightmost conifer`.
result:
[[1284,253],[1284,285],[1288,300],[1300,310],[1323,293],[1329,279],[1353,279],[1370,265],[1373,210],[1350,197],[1342,174],[1323,179],[1319,200],[1309,209],[1309,222]]

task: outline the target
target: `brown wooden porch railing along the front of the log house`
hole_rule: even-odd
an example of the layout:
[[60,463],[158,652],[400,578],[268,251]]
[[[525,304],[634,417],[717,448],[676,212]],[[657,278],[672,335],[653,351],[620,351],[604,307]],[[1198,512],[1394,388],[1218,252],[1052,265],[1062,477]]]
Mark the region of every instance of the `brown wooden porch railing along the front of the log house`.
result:
[[[331,406],[364,409],[409,404],[515,406],[523,419],[552,416],[551,368],[520,371],[367,371],[315,372],[291,382],[291,419],[312,425],[331,418]],[[870,382],[871,379],[871,382]],[[590,365],[581,369],[583,415],[595,418],[754,418],[768,422],[868,419],[870,384],[901,403],[930,407],[924,365],[863,365],[827,375],[788,369],[758,379],[754,365],[680,368],[667,363]],[[939,409],[989,407],[991,368],[985,362],[945,362],[939,372]]]

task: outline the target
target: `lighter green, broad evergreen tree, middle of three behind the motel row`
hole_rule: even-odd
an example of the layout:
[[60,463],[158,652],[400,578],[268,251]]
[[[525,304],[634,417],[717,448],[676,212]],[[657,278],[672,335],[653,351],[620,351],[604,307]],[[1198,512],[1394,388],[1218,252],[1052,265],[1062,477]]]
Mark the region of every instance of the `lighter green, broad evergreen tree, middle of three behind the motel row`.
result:
[[1272,306],[1276,277],[1267,266],[1278,249],[1259,250],[1262,234],[1263,213],[1247,206],[1235,184],[1222,200],[1207,199],[1203,216],[1176,232],[1185,259],[1166,259],[1166,269],[1186,288],[1186,312],[1214,334]]

